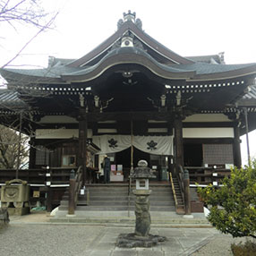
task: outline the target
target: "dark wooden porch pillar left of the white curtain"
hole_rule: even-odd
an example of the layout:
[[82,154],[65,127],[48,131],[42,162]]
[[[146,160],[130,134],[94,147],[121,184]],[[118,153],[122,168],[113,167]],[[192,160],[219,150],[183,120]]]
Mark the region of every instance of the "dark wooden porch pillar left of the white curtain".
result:
[[88,180],[87,172],[86,172],[87,132],[88,132],[88,122],[87,122],[86,116],[82,116],[81,120],[79,120],[79,159],[78,159],[78,164],[79,164],[79,166],[82,166],[83,183],[86,183],[86,180]]

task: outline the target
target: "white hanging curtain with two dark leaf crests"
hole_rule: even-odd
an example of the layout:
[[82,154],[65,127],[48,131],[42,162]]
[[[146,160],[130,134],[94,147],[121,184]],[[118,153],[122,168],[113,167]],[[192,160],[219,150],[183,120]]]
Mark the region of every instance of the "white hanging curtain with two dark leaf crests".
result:
[[98,154],[116,153],[132,145],[143,152],[154,155],[173,155],[173,136],[100,135],[92,141],[101,151]]

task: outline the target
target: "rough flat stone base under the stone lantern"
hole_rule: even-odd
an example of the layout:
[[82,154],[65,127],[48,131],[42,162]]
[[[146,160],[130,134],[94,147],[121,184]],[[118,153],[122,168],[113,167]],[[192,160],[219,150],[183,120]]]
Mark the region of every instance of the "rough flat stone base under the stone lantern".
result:
[[166,241],[165,236],[148,235],[137,236],[135,233],[120,234],[116,241],[116,246],[122,248],[144,247],[149,248]]

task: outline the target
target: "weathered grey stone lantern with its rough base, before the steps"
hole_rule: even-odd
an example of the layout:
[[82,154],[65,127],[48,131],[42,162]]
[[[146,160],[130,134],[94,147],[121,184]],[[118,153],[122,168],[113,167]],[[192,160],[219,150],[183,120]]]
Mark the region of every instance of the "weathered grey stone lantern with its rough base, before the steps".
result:
[[165,236],[150,235],[150,214],[149,214],[149,178],[154,178],[148,163],[141,160],[138,167],[134,169],[131,177],[136,181],[136,189],[133,190],[135,199],[135,232],[131,234],[120,234],[116,245],[119,247],[152,247],[159,242],[166,241]]

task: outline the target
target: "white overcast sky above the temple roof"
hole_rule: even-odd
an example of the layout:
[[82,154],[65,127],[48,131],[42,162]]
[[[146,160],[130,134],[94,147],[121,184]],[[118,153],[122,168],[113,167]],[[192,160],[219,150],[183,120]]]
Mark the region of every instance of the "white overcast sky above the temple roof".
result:
[[[179,55],[225,52],[226,64],[256,63],[256,0],[41,2],[48,12],[59,11],[55,30],[44,32],[33,40],[13,62],[15,65],[46,66],[48,55],[81,57],[114,33],[117,21],[128,10],[136,12],[142,29],[149,36]],[[35,32],[29,27],[18,26],[15,31],[2,26],[0,65],[11,59]],[[254,144],[252,139],[251,144]],[[252,154],[256,155],[256,147]]]

